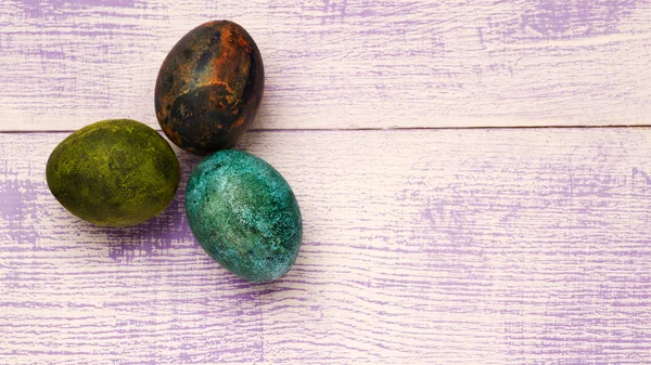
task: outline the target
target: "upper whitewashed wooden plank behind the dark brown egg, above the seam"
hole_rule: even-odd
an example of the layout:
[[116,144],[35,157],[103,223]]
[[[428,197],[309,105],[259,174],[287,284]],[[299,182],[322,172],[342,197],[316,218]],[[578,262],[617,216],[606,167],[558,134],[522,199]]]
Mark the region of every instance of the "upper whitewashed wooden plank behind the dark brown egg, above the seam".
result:
[[0,130],[157,127],[163,58],[216,18],[263,53],[257,129],[649,123],[644,0],[3,0]]

